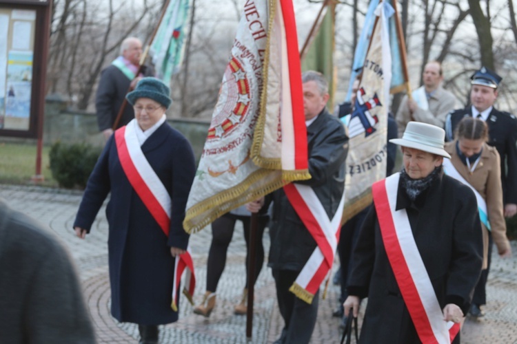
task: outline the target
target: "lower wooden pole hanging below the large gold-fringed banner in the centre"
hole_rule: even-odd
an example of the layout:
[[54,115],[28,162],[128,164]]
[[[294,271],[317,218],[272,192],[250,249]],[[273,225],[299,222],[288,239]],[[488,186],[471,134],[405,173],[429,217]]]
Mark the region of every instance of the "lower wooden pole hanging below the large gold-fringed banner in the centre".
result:
[[253,330],[253,300],[255,290],[255,260],[256,260],[256,227],[259,223],[259,214],[252,213],[250,219],[250,244],[247,252],[247,312],[246,312],[246,337],[252,338]]

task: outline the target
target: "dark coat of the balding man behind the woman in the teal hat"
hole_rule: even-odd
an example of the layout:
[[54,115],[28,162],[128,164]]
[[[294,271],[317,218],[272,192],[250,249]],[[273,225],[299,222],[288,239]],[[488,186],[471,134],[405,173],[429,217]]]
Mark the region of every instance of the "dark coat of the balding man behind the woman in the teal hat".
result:
[[[143,75],[152,76],[152,68],[145,68]],[[109,65],[101,72],[101,80],[97,86],[97,95],[95,96],[95,110],[97,112],[97,125],[99,131],[110,129],[124,101],[131,80],[123,74],[123,72]],[[117,128],[127,125],[134,118],[133,107],[128,103],[125,106],[119,125]]]

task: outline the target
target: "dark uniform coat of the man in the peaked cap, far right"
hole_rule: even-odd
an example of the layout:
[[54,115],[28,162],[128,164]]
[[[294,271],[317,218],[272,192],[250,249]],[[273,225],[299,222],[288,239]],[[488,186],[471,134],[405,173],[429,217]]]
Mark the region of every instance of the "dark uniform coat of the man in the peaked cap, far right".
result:
[[[447,140],[454,140],[454,131],[465,116],[472,117],[472,107],[455,110],[447,115],[445,120]],[[503,202],[517,204],[517,119],[508,112],[493,108],[487,118],[487,125],[488,144],[496,147],[501,158]]]

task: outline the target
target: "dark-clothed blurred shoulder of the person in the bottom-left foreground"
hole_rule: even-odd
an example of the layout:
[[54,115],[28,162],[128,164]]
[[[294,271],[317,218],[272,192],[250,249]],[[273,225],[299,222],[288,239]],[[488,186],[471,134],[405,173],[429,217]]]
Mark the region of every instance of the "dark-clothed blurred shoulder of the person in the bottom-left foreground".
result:
[[71,258],[0,200],[0,343],[95,343]]

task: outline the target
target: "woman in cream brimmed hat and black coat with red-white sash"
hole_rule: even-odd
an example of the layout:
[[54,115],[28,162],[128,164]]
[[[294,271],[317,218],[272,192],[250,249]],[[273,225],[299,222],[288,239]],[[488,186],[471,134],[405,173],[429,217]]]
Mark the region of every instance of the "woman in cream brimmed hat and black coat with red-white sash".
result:
[[368,304],[360,343],[459,343],[480,275],[476,197],[443,174],[445,131],[409,122],[403,169],[372,185],[374,207],[354,249],[345,314]]

